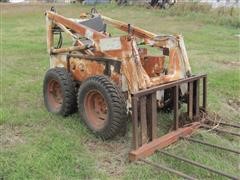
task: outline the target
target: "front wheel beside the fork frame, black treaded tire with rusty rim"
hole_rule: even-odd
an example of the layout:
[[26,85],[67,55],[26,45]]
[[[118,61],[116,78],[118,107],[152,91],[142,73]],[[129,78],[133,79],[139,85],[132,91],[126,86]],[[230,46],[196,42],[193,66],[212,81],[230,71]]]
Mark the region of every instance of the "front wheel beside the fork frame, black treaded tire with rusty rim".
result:
[[96,136],[103,140],[111,139],[126,126],[124,99],[120,89],[107,77],[90,77],[78,91],[80,117]]

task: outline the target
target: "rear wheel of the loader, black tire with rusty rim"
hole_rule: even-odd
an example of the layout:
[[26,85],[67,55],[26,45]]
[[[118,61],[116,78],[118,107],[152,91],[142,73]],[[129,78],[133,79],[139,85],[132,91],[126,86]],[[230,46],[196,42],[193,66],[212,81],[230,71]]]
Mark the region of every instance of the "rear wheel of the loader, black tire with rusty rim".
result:
[[43,96],[45,106],[51,113],[67,116],[77,110],[75,85],[65,68],[52,68],[46,72]]

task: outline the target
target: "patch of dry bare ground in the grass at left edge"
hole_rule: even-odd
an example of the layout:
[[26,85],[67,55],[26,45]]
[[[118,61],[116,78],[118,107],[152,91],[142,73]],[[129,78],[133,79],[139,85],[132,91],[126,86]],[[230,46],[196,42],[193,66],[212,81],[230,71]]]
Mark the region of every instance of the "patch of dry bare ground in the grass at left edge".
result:
[[0,147],[9,148],[24,143],[22,132],[18,127],[0,126]]

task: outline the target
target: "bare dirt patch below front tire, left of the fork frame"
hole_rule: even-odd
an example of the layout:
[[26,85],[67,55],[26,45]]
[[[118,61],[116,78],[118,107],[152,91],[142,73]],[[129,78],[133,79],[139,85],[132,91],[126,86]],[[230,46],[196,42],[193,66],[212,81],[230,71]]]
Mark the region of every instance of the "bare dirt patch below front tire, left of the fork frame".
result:
[[85,144],[97,157],[97,169],[114,177],[123,174],[130,150],[130,144],[126,137],[119,137],[110,142],[89,139],[85,141]]

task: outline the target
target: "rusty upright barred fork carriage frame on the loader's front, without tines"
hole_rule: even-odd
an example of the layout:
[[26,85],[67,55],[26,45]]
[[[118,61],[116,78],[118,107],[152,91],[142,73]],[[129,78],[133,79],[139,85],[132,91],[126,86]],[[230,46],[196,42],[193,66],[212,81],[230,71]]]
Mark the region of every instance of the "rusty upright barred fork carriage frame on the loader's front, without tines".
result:
[[[200,82],[202,81],[202,105],[200,106]],[[179,87],[187,83],[187,118],[192,123],[179,126]],[[173,89],[174,131],[157,138],[157,99],[159,90]],[[191,135],[200,127],[200,110],[206,111],[207,75],[196,75],[187,79],[160,85],[134,93],[132,96],[133,150],[129,153],[131,161],[153,154],[181,137]]]

